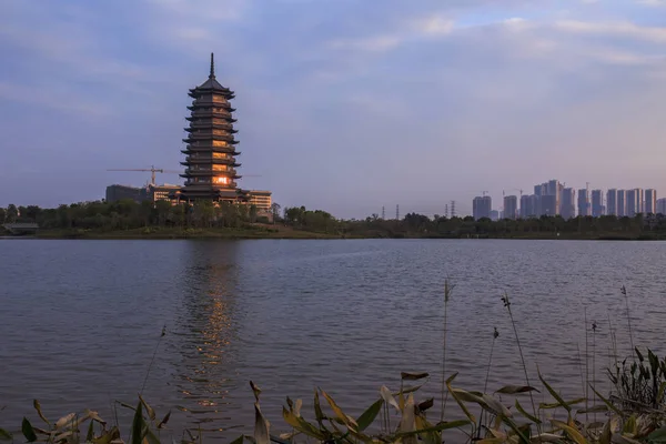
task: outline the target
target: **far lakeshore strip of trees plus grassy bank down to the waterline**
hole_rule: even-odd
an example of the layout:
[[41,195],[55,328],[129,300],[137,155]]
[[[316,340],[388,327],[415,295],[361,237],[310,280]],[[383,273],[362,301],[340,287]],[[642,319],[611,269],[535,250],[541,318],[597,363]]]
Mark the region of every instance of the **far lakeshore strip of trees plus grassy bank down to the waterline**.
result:
[[[666,218],[575,218],[491,221],[473,218],[428,218],[408,213],[402,220],[373,214],[365,220],[342,220],[321,210],[274,204],[269,213],[253,205],[211,202],[171,205],[165,201],[83,202],[57,209],[9,205],[0,209],[4,223],[36,222],[44,238],[221,238],[221,239],[593,239],[663,240]],[[0,233],[2,234],[2,233]]]

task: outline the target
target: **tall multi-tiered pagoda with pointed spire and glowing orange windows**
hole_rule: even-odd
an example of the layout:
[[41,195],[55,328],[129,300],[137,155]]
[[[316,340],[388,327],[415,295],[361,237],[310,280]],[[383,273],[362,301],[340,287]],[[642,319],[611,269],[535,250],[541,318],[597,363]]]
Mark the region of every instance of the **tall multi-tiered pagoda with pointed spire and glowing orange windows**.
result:
[[188,145],[181,151],[185,154],[185,161],[181,162],[185,171],[180,176],[185,183],[180,199],[248,202],[249,192],[239,189],[235,182],[241,178],[235,170],[241,164],[235,159],[240,154],[235,148],[239,141],[234,139],[238,131],[233,129],[235,109],[229,103],[234,93],[215,79],[212,53],[208,80],[191,89],[189,95],[193,100],[188,107],[191,111],[186,118],[188,137],[183,139]]

